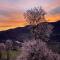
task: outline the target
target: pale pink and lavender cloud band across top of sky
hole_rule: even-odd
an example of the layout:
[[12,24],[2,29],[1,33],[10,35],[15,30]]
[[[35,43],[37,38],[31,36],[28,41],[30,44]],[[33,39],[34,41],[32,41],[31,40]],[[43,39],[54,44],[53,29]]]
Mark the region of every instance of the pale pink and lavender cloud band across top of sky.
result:
[[29,9],[34,6],[42,6],[46,10],[60,5],[59,0],[0,0],[0,9]]

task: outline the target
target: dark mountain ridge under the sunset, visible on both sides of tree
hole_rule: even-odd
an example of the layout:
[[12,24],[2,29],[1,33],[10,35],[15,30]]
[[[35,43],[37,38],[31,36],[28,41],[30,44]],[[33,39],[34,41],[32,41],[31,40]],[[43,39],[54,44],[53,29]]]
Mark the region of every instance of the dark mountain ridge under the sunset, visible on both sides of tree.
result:
[[[60,21],[57,22],[49,22],[54,26],[53,33],[51,34],[50,41],[59,41],[60,42]],[[23,40],[31,39],[31,30],[32,26],[28,25],[25,27],[18,27],[15,29],[9,29],[6,31],[0,31],[0,42],[4,42],[7,39],[10,40],[19,40],[23,42]]]

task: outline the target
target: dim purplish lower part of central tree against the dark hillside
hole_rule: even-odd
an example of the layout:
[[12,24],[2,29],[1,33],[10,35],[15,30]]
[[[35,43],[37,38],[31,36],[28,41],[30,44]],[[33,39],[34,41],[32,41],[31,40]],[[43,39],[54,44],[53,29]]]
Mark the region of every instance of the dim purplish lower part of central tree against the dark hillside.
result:
[[53,26],[48,23],[40,23],[37,26],[33,27],[33,35],[36,39],[42,39],[43,41],[48,41],[53,30]]

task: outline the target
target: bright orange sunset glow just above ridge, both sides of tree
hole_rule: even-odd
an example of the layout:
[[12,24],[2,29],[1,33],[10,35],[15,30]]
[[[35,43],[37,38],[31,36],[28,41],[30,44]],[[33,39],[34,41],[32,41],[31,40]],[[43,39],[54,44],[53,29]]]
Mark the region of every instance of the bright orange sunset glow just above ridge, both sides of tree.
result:
[[[0,18],[1,20],[7,20],[7,21],[2,21],[0,22],[0,30],[7,30],[10,28],[16,28],[16,27],[23,27],[25,25],[27,25],[26,20],[24,19],[24,17],[22,15],[15,15],[12,14],[13,17],[12,18]],[[10,20],[11,19],[11,20]],[[48,22],[54,22],[54,21],[58,21],[60,19],[60,15],[50,15],[50,16],[46,16],[46,20]]]

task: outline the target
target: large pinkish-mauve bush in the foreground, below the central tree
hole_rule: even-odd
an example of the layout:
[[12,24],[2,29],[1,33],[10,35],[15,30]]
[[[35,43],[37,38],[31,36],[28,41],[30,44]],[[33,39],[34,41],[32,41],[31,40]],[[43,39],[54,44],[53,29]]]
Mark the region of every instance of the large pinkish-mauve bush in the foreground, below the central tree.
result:
[[60,60],[60,55],[48,49],[42,40],[24,42],[17,60]]

